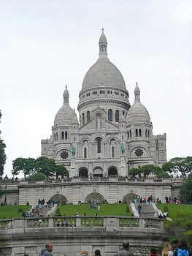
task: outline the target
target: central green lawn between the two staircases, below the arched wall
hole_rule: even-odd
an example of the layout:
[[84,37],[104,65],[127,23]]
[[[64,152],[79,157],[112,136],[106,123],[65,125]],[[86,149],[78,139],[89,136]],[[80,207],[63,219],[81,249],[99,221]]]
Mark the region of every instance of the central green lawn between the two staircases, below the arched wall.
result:
[[89,208],[89,204],[80,205],[63,205],[58,206],[60,214],[66,216],[74,216],[77,212],[80,216],[131,216],[130,211],[127,212],[129,206],[125,203],[104,203],[100,205],[100,211],[97,208]]

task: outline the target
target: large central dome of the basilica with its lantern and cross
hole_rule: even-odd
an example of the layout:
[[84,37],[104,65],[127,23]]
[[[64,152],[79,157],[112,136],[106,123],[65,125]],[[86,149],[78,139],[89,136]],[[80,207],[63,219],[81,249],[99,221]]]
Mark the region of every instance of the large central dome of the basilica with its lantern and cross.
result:
[[88,70],[82,82],[82,90],[98,86],[110,86],[126,89],[126,84],[120,71],[107,57],[107,39],[102,31],[99,39],[99,59]]

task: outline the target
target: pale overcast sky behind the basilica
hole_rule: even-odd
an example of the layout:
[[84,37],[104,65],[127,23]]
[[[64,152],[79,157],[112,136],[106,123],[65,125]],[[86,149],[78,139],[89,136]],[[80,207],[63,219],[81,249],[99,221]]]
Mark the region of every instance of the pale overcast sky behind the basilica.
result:
[[77,113],[82,80],[99,57],[102,27],[131,105],[138,82],[153,134],[166,132],[167,160],[192,156],[191,0],[0,0],[4,174],[11,177],[17,157],[40,156],[65,85]]

